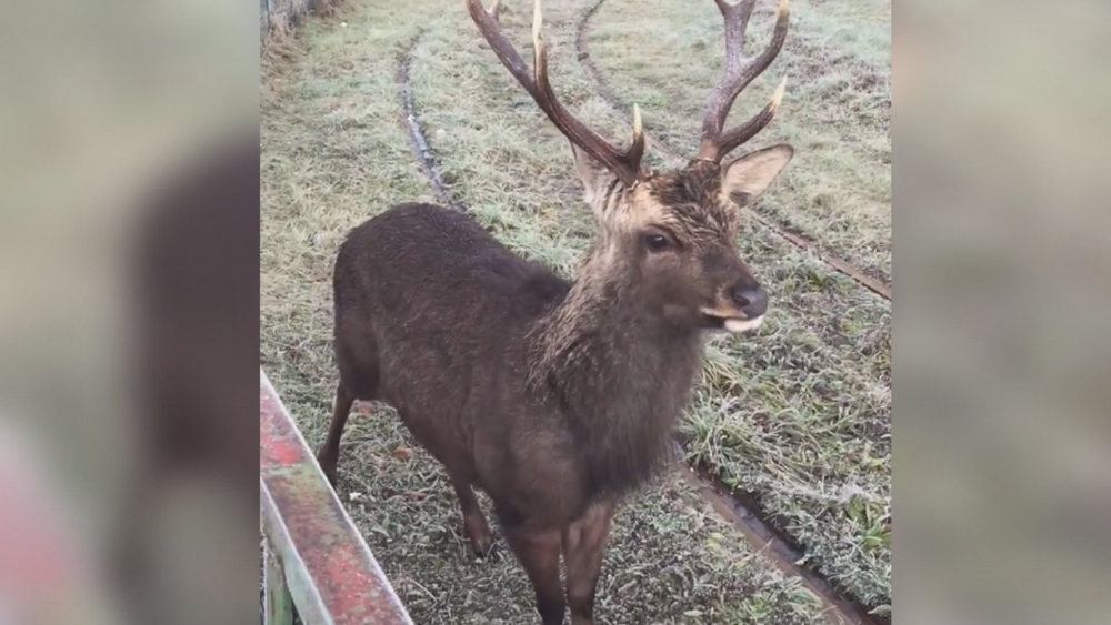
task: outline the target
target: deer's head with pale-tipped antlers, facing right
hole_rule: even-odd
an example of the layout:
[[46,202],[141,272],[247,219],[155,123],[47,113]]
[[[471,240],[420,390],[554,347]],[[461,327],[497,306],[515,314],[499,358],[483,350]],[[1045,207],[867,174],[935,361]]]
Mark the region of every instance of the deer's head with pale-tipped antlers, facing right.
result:
[[501,32],[498,1],[487,10],[481,0],[467,0],[471,18],[502,64],[571,142],[584,199],[599,222],[592,259],[603,260],[600,271],[635,276],[648,305],[671,321],[743,332],[760,325],[768,296],[737,254],[738,211],[771,184],[793,150],[778,144],[722,161],[772,120],[785,80],[752,119],[728,131],[724,124],[738,94],[783,47],[788,0],[780,0],[768,48],[751,60],[742,58],[741,49],[755,0],[714,2],[725,21],[725,61],[702,120],[701,145],[685,168],[652,172],[641,167],[644,133],[639,108],[633,108],[632,142],[622,151],[556,98],[548,81],[540,0],[532,22],[534,73]]

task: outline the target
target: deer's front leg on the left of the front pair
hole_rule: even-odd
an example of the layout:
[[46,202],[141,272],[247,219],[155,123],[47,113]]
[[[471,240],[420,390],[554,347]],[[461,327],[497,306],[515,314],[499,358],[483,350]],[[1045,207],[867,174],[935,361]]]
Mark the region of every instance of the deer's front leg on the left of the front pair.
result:
[[507,526],[506,542],[529,574],[543,625],[562,625],[567,599],[559,578],[560,531]]

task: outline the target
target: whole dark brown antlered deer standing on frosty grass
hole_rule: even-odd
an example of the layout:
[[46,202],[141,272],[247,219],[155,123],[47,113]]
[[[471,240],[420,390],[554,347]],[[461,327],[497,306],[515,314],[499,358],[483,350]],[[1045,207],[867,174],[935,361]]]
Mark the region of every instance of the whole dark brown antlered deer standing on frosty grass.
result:
[[[510,251],[464,212],[398,204],[350,231],[333,272],[334,412],[318,462],[333,485],[356,400],[378,401],[447,472],[476,555],[492,538],[487,493],[524,568],[543,625],[591,625],[618,504],[671,453],[708,333],[760,326],[768,295],[739,258],[739,212],[793,155],[775,144],[725,157],[771,122],[785,80],[725,130],[740,92],[787,34],[781,0],[767,48],[742,58],[755,0],[714,0],[725,60],[701,143],[681,170],[655,172],[639,107],[619,150],[572,117],[548,79],[539,0],[530,72],[501,31],[499,4],[466,0],[490,48],[569,140],[597,232],[574,280]],[[560,578],[562,558],[565,592]]]

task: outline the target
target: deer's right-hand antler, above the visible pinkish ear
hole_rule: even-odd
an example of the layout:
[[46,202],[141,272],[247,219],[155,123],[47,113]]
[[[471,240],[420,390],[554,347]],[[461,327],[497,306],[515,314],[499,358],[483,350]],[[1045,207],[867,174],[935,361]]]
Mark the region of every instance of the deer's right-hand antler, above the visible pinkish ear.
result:
[[788,0],[780,0],[775,10],[775,30],[772,32],[771,42],[760,56],[745,63],[742,62],[741,48],[744,47],[744,30],[749,26],[749,18],[752,17],[757,0],[741,0],[737,4],[730,4],[727,0],[713,1],[725,18],[725,62],[721,80],[710,93],[710,103],[702,118],[702,144],[695,159],[720,162],[730,151],[763,130],[775,115],[775,109],[783,99],[783,91],[787,89],[785,78],[779,83],[771,101],[763,110],[741,125],[722,132],[729,109],[732,108],[737,95],[768,69],[783,48],[790,10]]

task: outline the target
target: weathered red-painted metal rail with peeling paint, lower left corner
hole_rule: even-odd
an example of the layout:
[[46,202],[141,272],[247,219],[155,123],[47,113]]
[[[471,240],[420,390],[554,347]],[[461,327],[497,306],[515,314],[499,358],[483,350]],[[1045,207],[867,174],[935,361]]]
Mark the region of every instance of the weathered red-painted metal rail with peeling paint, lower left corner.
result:
[[412,625],[266,373],[259,384],[262,525],[301,621]]

